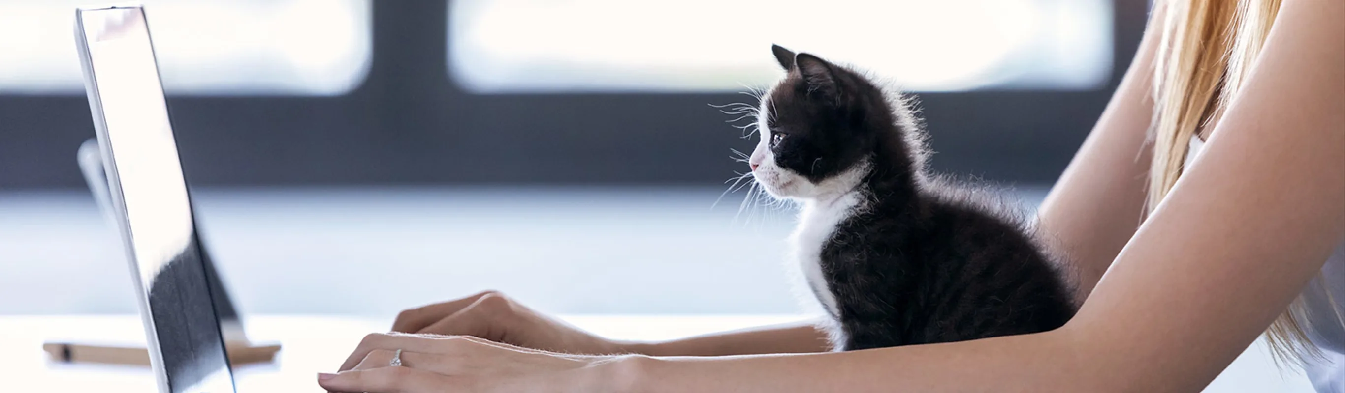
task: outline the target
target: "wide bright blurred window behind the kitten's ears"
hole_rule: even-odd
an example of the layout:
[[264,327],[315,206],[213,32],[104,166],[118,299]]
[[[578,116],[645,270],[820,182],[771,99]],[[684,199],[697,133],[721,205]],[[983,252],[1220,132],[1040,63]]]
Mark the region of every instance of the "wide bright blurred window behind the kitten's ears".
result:
[[460,0],[449,72],[475,93],[724,91],[779,75],[771,43],[908,90],[1092,90],[1108,0]]

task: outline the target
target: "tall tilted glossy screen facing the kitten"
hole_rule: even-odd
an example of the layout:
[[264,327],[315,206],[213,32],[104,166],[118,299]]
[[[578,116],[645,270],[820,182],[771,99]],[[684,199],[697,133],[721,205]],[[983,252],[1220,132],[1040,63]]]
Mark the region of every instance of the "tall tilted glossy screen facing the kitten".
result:
[[144,9],[78,9],[75,42],[159,390],[234,393]]

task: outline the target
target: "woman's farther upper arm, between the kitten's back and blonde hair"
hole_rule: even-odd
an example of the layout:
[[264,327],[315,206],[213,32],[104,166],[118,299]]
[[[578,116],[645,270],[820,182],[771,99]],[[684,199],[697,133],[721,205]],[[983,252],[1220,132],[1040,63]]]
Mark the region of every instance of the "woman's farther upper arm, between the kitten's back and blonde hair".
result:
[[1037,211],[1037,232],[1073,263],[1080,303],[1143,220],[1153,154],[1146,144],[1150,86],[1161,36],[1154,27],[1163,20],[1162,7],[1155,9],[1107,110]]

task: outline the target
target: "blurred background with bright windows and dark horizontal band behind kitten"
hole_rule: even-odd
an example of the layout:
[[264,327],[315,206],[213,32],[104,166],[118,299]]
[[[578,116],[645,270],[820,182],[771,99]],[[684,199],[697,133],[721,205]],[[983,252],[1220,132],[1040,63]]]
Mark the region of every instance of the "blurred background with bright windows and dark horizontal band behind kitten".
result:
[[[75,164],[94,131],[71,9],[90,3],[0,0],[0,315],[136,313]],[[1034,208],[1150,7],[144,3],[241,311],[382,318],[486,288],[547,313],[800,313],[780,263],[791,212],[728,189],[746,169],[729,149],[755,139],[710,106],[781,75],[772,43],[919,94],[936,170]]]

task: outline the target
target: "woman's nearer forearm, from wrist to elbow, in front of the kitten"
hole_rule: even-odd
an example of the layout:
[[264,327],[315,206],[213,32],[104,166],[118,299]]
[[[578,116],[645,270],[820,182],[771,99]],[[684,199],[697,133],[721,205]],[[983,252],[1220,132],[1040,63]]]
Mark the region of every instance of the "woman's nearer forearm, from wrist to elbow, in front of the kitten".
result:
[[[627,357],[624,392],[1104,392],[1065,333],[843,353]],[[956,381],[956,382],[950,382]],[[1124,388],[1124,386],[1111,386]]]

